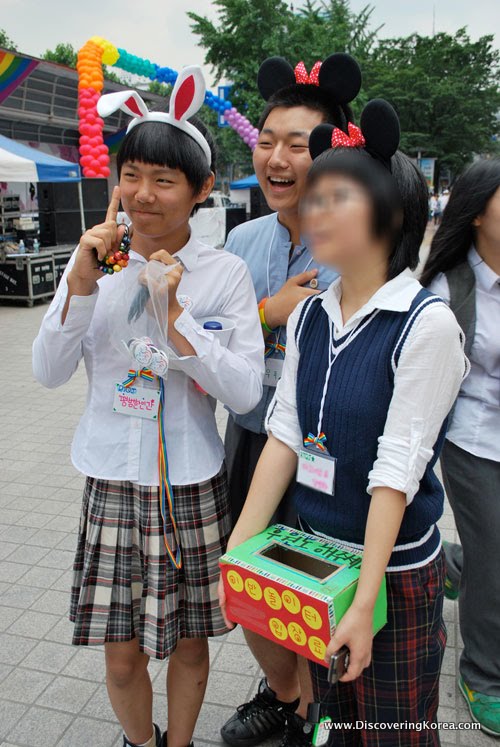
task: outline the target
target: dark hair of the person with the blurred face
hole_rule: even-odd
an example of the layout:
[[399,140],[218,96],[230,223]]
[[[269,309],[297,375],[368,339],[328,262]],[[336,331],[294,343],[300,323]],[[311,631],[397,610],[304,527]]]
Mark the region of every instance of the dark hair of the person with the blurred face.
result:
[[390,247],[387,279],[418,264],[427,226],[427,185],[417,167],[398,151],[391,159],[391,172],[366,151],[333,148],[322,153],[311,166],[308,188],[320,177],[343,174],[360,183],[373,207],[373,233]]

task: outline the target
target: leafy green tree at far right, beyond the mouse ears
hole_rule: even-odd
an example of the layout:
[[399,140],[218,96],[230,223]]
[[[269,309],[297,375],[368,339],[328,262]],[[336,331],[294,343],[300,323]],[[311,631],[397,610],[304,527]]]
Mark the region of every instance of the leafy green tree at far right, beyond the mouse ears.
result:
[[499,62],[493,36],[471,41],[466,29],[384,39],[363,66],[364,95],[394,105],[402,150],[457,173],[475,153],[498,148]]

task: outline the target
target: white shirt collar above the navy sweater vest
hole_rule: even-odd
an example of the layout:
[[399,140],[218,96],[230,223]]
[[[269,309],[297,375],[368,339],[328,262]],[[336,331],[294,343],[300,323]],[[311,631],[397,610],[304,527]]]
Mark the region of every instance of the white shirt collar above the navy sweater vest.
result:
[[[373,296],[362,306],[346,323],[351,326],[359,319],[371,314],[375,309],[382,311],[408,311],[413,299],[421,289],[411,270],[404,270],[392,280],[389,280],[373,294]],[[322,304],[326,313],[333,321],[337,329],[344,327],[340,300],[342,298],[342,278],[338,277],[325,291]]]

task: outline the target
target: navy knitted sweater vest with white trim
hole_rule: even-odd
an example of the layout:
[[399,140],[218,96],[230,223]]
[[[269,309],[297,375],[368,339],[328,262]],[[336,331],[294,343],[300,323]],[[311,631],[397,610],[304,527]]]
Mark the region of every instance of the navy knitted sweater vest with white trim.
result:
[[[360,323],[348,344],[338,353],[330,375],[322,431],[326,447],[337,458],[335,495],[297,484],[295,502],[299,516],[316,531],[363,544],[370,495],[368,473],[377,458],[378,439],[394,388],[392,362],[397,367],[401,348],[417,316],[441,299],[422,289],[408,312],[377,311]],[[335,340],[334,348],[348,335]],[[328,369],[329,317],[315,297],[304,305],[296,331],[300,351],[297,373],[297,411],[302,434],[317,435],[318,416]],[[434,474],[446,432],[443,424],[434,455],[412,503],[406,508],[396,545],[417,543],[403,553],[404,563],[418,563],[439,544],[439,533],[418,544],[443,512],[443,488]],[[432,532],[430,534],[433,534]],[[434,547],[431,547],[433,545]],[[392,562],[401,561],[396,554]]]

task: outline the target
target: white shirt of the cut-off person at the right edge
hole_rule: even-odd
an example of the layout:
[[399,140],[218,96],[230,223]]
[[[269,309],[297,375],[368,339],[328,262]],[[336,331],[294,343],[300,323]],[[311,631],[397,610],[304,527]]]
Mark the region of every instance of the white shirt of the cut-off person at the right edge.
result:
[[[474,456],[500,462],[500,276],[474,247],[467,260],[476,277],[476,334],[471,371],[460,389],[447,438]],[[446,275],[437,275],[430,290],[450,303]]]

